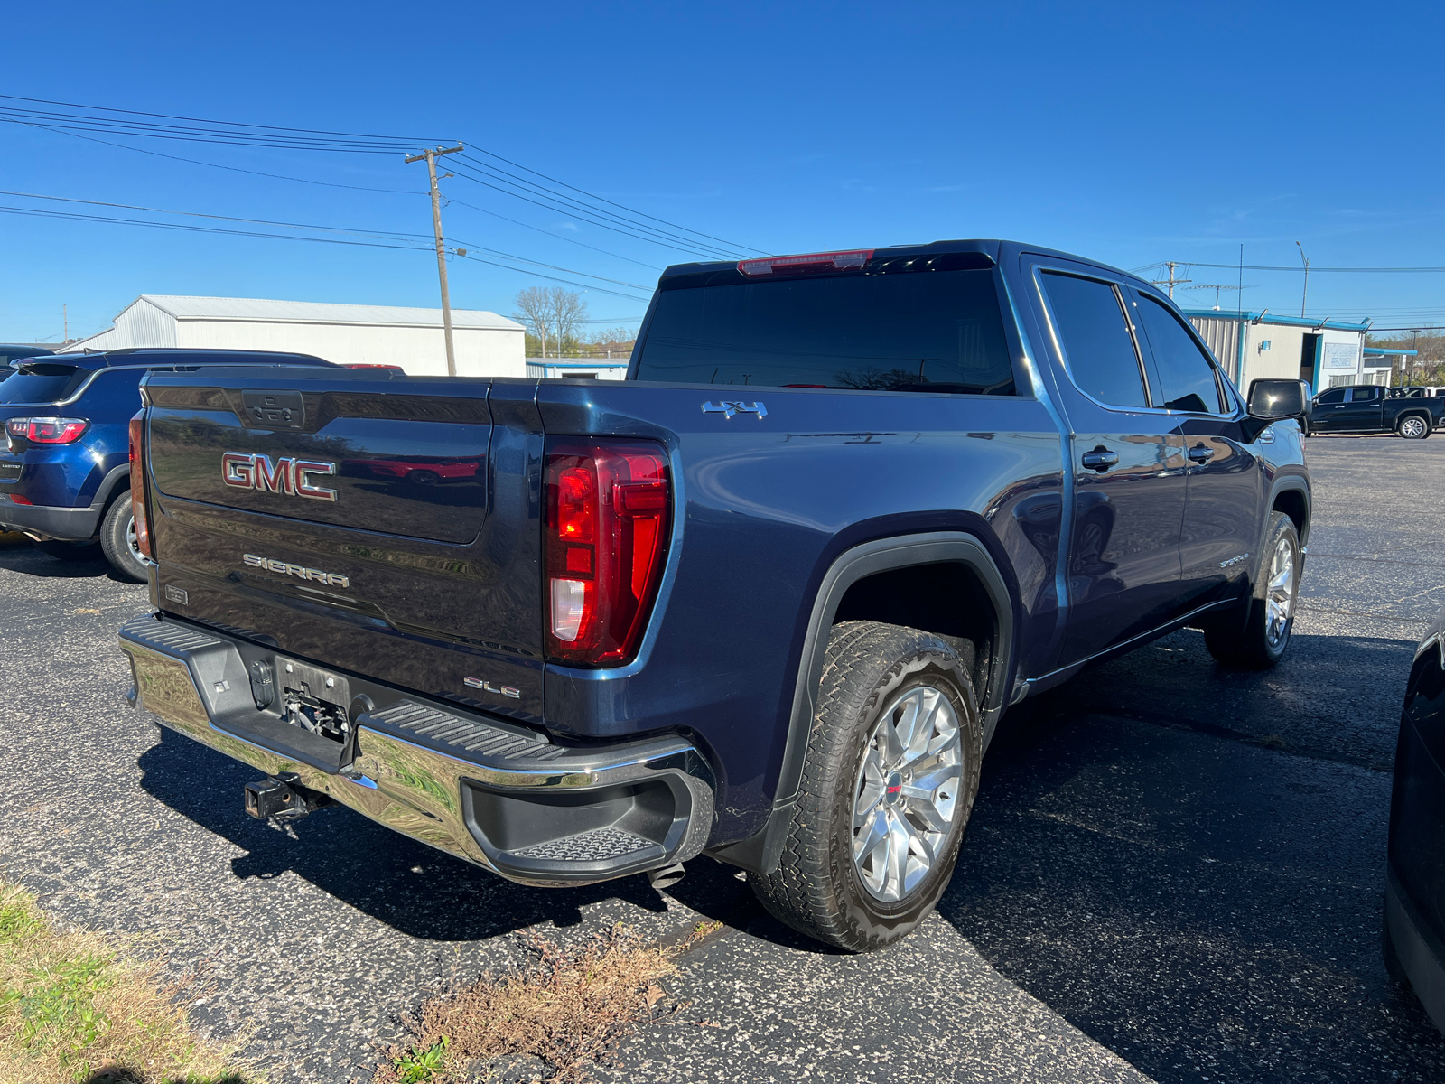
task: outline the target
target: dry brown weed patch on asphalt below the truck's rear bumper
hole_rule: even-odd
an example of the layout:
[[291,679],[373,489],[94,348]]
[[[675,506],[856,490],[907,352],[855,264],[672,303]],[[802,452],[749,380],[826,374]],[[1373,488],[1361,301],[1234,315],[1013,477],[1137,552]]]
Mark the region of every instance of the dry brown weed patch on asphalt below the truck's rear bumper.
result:
[[558,1084],[585,1084],[617,1039],[657,1016],[657,983],[688,944],[644,945],[624,926],[577,948],[530,937],[529,967],[483,974],[422,1005],[406,1020],[410,1044],[387,1051],[373,1084],[471,1084],[507,1055],[539,1058]]

